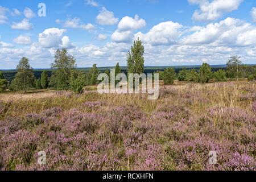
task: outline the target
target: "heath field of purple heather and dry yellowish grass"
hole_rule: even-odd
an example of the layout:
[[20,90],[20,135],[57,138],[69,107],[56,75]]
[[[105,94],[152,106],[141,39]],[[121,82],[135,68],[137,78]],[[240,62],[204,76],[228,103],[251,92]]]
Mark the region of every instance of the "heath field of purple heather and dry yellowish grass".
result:
[[162,85],[156,101],[93,87],[3,93],[0,169],[255,170],[255,100],[247,81]]

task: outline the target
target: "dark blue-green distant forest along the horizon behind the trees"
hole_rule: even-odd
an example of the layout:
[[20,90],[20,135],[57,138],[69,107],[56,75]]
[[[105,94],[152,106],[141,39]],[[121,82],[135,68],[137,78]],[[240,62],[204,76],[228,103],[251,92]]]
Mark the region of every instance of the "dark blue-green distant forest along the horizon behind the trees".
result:
[[[173,66],[173,67],[144,67],[144,73],[154,73],[156,71],[164,71],[164,69],[166,68],[174,68],[175,69],[175,72],[176,73],[179,73],[179,71],[182,69],[182,68],[187,68],[187,69],[196,69],[196,70],[199,70],[201,67],[201,65],[194,65],[194,66]],[[226,65],[211,65],[212,67],[212,71],[215,72],[215,71],[218,71],[220,69],[226,69]],[[106,70],[110,70],[110,69],[113,69],[114,67],[100,67],[98,68],[100,70],[100,72],[105,72]],[[76,68],[76,69],[79,69],[79,70],[83,70],[85,72],[88,72],[90,70],[90,68]],[[122,69],[122,72],[123,73],[127,73],[127,67],[121,67]],[[36,78],[39,78],[41,76],[41,73],[44,71],[44,70],[47,70],[47,73],[48,73],[48,77],[51,77],[52,75],[52,69],[33,69],[33,72],[34,72],[34,75]],[[0,70],[1,71],[1,70]],[[8,80],[8,81],[12,81],[15,74],[17,73],[17,71],[15,69],[13,70],[3,70],[3,75],[5,76],[5,78]]]

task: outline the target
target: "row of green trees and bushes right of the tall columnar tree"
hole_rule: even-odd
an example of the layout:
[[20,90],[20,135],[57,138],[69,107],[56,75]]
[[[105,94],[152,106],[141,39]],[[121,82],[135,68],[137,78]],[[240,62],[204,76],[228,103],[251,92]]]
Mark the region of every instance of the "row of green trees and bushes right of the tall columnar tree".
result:
[[156,73],[159,73],[159,78],[164,81],[164,84],[174,84],[175,80],[204,84],[208,82],[227,81],[228,78],[236,80],[247,78],[249,81],[256,79],[256,67],[242,64],[241,57],[230,57],[226,65],[226,71],[220,69],[213,72],[209,64],[203,63],[199,71],[183,68],[179,73],[176,73],[174,68],[167,68],[164,71],[158,71]]

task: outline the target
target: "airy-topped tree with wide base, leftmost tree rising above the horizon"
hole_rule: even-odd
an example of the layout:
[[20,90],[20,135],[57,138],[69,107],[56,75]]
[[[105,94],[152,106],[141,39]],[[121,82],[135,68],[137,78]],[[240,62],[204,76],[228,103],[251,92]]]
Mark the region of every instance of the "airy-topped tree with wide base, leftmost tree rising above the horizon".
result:
[[29,60],[27,57],[22,57],[22,59],[20,59],[19,64],[16,67],[18,72],[11,82],[11,88],[14,90],[24,90],[27,92],[28,89],[35,87],[34,73],[28,62]]

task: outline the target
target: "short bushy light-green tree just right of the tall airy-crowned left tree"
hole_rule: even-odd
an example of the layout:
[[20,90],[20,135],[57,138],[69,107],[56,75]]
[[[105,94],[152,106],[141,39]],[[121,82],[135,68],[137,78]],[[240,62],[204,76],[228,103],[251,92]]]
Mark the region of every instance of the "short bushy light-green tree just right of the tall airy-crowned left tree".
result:
[[80,94],[83,92],[84,87],[86,86],[86,75],[82,71],[72,71],[70,86],[73,92]]

